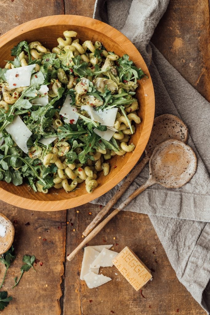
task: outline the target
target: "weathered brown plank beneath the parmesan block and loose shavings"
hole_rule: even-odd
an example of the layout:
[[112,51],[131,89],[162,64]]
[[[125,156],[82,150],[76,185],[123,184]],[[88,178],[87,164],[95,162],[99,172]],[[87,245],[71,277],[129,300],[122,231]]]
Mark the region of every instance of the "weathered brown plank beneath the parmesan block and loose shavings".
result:
[[[68,210],[67,220],[73,225],[67,227],[67,254],[81,242],[82,231],[99,209],[99,205],[86,204]],[[98,244],[114,244],[113,249],[117,252],[128,246],[153,270],[153,281],[146,284],[142,291],[146,299],[132,288],[115,267],[100,270],[112,278],[111,282],[98,289],[88,289],[85,282],[79,280],[83,256],[81,251],[73,261],[66,263],[63,315],[105,315],[112,314],[111,311],[116,315],[131,312],[172,315],[177,314],[178,309],[184,315],[205,314],[179,283],[148,216],[122,211],[89,245]]]

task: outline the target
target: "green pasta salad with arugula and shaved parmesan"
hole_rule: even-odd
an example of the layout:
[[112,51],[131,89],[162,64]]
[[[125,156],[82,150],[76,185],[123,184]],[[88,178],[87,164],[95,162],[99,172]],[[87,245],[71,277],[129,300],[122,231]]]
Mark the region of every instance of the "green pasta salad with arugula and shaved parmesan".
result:
[[135,148],[127,143],[140,123],[135,90],[144,73],[99,41],[63,35],[52,51],[20,42],[0,68],[0,180],[43,193],[85,181],[91,193],[109,159]]

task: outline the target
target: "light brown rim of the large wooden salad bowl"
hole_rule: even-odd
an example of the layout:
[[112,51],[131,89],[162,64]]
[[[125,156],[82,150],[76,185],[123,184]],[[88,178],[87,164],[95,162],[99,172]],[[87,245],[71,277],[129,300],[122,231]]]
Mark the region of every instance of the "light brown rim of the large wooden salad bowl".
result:
[[[25,32],[32,31],[41,27],[55,26],[55,25],[76,25],[76,26],[80,26],[84,28],[90,28],[88,27],[90,22],[91,22],[91,29],[97,32],[101,32],[102,34],[104,34],[103,32],[104,27],[106,27],[105,35],[111,38],[113,43],[116,43],[118,45],[125,45],[125,43],[129,43],[129,46],[133,50],[133,54],[137,54],[139,56],[141,68],[148,76],[148,79],[146,79],[147,81],[146,84],[144,84],[144,82],[142,81],[139,81],[139,85],[141,85],[141,88],[144,89],[145,91],[145,106],[146,106],[145,121],[144,121],[142,132],[140,134],[140,138],[144,139],[144,144],[141,143],[140,145],[136,146],[134,150],[135,154],[132,155],[132,163],[130,160],[128,160],[130,161],[130,163],[127,165],[126,168],[120,169],[119,172],[116,173],[114,178],[113,177],[110,178],[109,181],[107,181],[106,184],[103,185],[103,187],[98,186],[97,189],[95,189],[92,194],[85,195],[85,200],[84,198],[82,198],[83,195],[72,197],[70,194],[69,195],[66,194],[67,198],[63,200],[54,200],[54,201],[36,200],[36,199],[20,197],[17,194],[6,191],[4,190],[4,188],[0,187],[0,196],[1,196],[0,198],[1,200],[7,203],[10,203],[20,208],[29,209],[29,210],[37,210],[37,211],[57,211],[57,210],[64,210],[64,209],[80,206],[82,204],[85,204],[94,200],[95,198],[99,198],[106,192],[110,191],[114,186],[116,186],[130,172],[130,170],[138,162],[140,156],[144,152],[144,149],[150,137],[153,120],[154,120],[154,113],[155,113],[154,89],[153,89],[150,73],[145,64],[144,59],[142,58],[137,48],[133,45],[133,43],[120,31],[116,30],[114,27],[104,22],[101,22],[99,20],[95,20],[89,17],[81,16],[81,15],[67,15],[67,14],[66,15],[63,15],[63,14],[51,15],[51,16],[45,16],[45,17],[41,17],[35,20],[28,21],[6,32],[0,37],[0,49],[3,45],[9,43],[11,39],[19,35],[22,35]],[[115,39],[111,37],[112,33],[115,33]],[[147,92],[149,93],[149,97],[147,97]],[[69,206],[70,204],[71,204],[71,207]]]

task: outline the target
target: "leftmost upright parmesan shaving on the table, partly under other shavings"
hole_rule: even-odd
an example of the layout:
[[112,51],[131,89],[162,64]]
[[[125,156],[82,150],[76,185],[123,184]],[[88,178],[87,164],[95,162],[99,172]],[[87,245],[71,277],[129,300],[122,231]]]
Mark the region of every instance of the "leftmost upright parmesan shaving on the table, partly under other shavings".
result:
[[80,279],[84,280],[84,276],[89,272],[99,273],[99,268],[91,268],[90,265],[99,255],[99,252],[93,248],[85,247],[84,256],[82,260],[82,268],[80,273]]

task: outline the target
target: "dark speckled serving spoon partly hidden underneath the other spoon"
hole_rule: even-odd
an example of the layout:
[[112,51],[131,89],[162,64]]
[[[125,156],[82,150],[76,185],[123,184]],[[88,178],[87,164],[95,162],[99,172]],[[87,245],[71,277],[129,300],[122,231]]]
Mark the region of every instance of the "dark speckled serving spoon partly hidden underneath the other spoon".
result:
[[177,116],[164,114],[154,119],[150,139],[145,148],[145,157],[136,165],[136,167],[131,171],[126,180],[120,186],[116,194],[104,206],[104,208],[101,209],[98,215],[96,215],[93,221],[88,225],[88,227],[82,233],[84,236],[87,236],[94,229],[99,221],[101,221],[101,219],[109,212],[113,205],[128,189],[133,180],[139,175],[145,165],[149,162],[156,145],[168,139],[177,139],[186,143],[188,139],[188,129],[183,121]]

